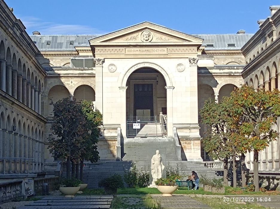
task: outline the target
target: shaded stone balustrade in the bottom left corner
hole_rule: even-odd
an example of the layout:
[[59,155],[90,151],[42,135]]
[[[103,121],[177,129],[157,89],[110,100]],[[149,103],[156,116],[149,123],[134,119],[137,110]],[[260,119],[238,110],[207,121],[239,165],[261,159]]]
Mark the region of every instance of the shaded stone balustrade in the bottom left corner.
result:
[[0,203],[22,196],[22,180],[0,183]]

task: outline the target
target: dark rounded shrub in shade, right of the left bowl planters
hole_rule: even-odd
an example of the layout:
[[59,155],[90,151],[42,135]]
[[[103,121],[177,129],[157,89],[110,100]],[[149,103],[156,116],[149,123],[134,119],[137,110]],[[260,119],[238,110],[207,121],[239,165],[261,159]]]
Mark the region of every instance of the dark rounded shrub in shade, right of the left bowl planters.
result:
[[99,187],[104,187],[105,194],[115,194],[118,188],[124,187],[124,182],[120,174],[114,174],[98,182]]

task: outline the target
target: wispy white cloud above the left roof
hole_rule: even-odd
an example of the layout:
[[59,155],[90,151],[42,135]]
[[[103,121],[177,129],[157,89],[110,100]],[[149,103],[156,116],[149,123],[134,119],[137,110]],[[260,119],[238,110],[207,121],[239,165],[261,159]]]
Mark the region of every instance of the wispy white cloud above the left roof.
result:
[[34,16],[22,16],[20,20],[25,25],[27,32],[37,30],[42,35],[74,35],[74,34],[105,34],[106,31],[99,30],[88,25],[80,24],[60,24],[54,22],[44,22]]

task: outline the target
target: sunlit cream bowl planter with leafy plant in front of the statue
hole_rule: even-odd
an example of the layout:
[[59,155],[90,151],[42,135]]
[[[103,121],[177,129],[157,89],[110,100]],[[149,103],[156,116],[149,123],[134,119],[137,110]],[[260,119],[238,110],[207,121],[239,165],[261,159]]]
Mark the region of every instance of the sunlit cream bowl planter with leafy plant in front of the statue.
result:
[[178,188],[176,185],[176,179],[180,179],[181,176],[170,176],[168,178],[160,178],[155,181],[156,188],[162,193],[162,196],[172,196],[172,193]]

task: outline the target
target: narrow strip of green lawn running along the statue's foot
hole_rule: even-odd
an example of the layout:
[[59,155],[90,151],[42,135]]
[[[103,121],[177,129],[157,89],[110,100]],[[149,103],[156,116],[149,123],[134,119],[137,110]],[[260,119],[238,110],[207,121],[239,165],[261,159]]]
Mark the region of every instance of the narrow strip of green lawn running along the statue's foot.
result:
[[[104,189],[85,189],[81,195],[104,195]],[[146,195],[146,194],[160,194],[157,188],[122,188],[118,189],[117,194],[131,194],[131,195]],[[218,195],[218,193],[205,192],[203,188],[199,190],[188,190],[186,187],[180,187],[174,194],[205,194]],[[77,194],[76,194],[77,195]],[[279,191],[267,192],[247,192],[242,191],[241,188],[226,187],[223,195],[280,195]]]

